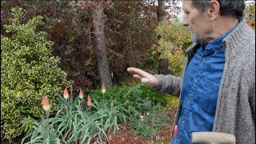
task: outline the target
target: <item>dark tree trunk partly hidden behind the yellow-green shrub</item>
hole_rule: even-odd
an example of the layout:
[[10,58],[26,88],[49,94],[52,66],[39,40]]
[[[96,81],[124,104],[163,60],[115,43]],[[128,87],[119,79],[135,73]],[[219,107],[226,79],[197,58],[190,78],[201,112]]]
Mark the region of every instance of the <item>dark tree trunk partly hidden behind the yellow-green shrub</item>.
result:
[[[158,0],[158,22],[162,22],[165,20],[165,0]],[[160,39],[161,36],[158,35],[158,39]],[[158,74],[168,74],[168,60],[167,58],[161,58],[159,59],[159,68],[158,68]]]

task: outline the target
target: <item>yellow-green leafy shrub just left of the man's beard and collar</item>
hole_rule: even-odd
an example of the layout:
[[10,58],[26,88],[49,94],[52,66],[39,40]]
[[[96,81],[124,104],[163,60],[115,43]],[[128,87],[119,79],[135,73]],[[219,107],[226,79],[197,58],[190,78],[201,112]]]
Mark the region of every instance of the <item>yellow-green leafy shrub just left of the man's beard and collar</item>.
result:
[[180,76],[185,60],[185,50],[192,45],[191,32],[181,22],[164,21],[156,28],[156,33],[161,36],[158,45],[153,45],[153,54],[160,53],[159,58],[167,58],[170,74]]

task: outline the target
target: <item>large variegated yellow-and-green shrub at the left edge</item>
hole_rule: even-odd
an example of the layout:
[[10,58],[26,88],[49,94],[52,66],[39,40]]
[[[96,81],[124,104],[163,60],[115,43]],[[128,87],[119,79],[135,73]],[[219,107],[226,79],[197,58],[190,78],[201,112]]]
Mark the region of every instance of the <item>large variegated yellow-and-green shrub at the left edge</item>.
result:
[[21,24],[22,10],[15,7],[12,12],[10,25],[4,26],[9,36],[1,35],[1,138],[9,140],[22,133],[23,118],[42,114],[43,95],[54,110],[61,86],[70,85],[58,67],[60,59],[50,54],[53,42],[45,32],[34,31],[42,17]]

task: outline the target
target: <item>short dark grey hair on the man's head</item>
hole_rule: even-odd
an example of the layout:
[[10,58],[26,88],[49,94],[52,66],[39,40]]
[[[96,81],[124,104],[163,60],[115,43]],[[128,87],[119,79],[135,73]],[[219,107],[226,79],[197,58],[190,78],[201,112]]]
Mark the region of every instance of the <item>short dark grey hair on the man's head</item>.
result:
[[[211,0],[192,0],[193,6],[198,9],[198,11],[204,12],[207,6],[210,6]],[[220,15],[231,16],[234,18],[242,18],[243,10],[245,9],[244,0],[218,0],[220,5]]]

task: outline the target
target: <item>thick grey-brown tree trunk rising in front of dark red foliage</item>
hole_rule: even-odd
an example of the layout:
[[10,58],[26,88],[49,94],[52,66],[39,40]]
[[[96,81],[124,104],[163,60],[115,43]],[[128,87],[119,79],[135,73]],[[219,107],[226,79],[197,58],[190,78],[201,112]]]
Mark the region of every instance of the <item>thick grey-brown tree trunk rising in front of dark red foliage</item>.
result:
[[93,34],[96,48],[96,58],[98,62],[98,73],[101,83],[106,86],[112,86],[112,79],[110,75],[110,66],[106,56],[106,44],[104,34],[104,13],[103,13],[103,0],[97,2],[94,8],[93,19]]

